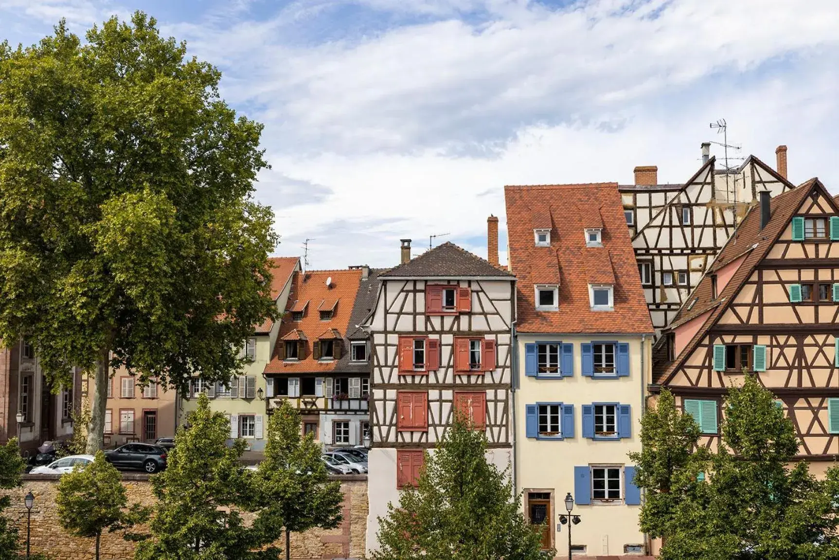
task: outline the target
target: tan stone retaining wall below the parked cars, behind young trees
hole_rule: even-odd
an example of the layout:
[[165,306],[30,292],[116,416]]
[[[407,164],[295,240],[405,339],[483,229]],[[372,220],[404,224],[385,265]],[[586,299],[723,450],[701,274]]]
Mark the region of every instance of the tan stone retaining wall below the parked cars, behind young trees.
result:
[[[20,530],[21,546],[26,546],[26,507],[23,496],[31,490],[35,495],[32,508],[31,547],[32,552],[41,552],[55,560],[89,560],[94,555],[94,539],[70,536],[63,531],[58,522],[55,508],[55,493],[58,489],[58,475],[27,474],[23,476],[23,486],[12,490],[2,490],[0,495],[12,498],[12,505],[5,514]],[[347,558],[364,555],[365,531],[367,527],[367,476],[335,476],[341,480],[344,492],[343,515],[341,526],[331,530],[313,530],[305,533],[292,533],[291,557],[308,558]],[[128,494],[128,503],[139,502],[154,505],[151,483],[147,474],[123,474],[122,484]],[[279,542],[280,547],[284,542]],[[102,560],[132,560],[134,543],[122,539],[119,533],[102,535]]]

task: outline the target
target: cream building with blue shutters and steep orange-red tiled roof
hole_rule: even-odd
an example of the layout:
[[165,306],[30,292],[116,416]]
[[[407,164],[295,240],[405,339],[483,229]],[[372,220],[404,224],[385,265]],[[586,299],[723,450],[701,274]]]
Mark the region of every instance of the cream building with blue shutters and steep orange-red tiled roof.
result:
[[634,557],[653,325],[617,183],[507,186],[515,326],[516,489],[543,545],[570,555],[557,513],[574,497],[571,553]]

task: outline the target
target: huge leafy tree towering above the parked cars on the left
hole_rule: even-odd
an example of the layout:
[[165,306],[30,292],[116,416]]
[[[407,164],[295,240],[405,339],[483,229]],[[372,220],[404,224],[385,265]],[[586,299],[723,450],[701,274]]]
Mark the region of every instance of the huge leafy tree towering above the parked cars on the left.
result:
[[108,365],[185,390],[226,380],[276,310],[273,216],[253,200],[262,125],[154,18],[86,33],[62,21],[0,44],[0,338],[33,343],[54,386],[95,371],[87,448],[102,448]]

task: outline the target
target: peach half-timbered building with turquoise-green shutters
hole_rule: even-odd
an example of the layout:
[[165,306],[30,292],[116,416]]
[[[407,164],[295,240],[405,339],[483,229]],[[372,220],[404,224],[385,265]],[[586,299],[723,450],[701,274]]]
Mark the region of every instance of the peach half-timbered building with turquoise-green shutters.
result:
[[816,179],[760,196],[664,331],[651,390],[670,389],[713,447],[727,387],[754,375],[820,472],[839,457],[839,206]]

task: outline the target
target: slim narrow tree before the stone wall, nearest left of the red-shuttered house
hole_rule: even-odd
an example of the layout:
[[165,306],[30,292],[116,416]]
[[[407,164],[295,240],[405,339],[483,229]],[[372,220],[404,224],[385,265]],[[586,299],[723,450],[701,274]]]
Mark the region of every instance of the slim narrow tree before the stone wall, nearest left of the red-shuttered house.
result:
[[313,527],[331,529],[341,522],[341,483],[330,482],[312,434],[300,436],[300,412],[287,401],[268,421],[265,459],[253,477],[259,515],[255,526],[266,540],[285,533],[289,560],[290,534]]

